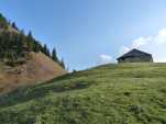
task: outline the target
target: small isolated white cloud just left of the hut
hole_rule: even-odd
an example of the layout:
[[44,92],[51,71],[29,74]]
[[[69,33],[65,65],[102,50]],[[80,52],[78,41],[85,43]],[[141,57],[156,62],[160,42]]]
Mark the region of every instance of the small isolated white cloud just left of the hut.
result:
[[99,56],[99,64],[102,65],[102,64],[110,64],[112,61],[112,57],[109,56],[109,55],[100,55]]

